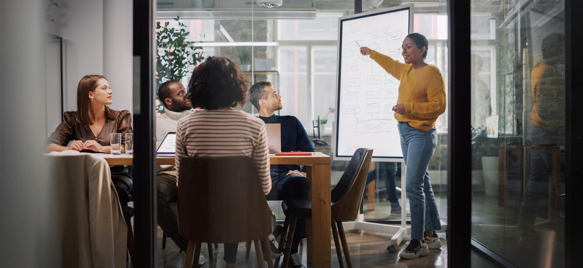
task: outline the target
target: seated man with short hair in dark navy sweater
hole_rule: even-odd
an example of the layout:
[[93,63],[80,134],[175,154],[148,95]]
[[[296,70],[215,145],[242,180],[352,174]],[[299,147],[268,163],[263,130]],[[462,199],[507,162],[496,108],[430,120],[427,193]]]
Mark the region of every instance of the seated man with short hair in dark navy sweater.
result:
[[[259,82],[251,86],[249,90],[249,100],[259,111],[259,118],[265,124],[281,124],[282,151],[314,151],[308,133],[296,117],[275,115],[275,111],[283,108],[281,99],[282,96],[279,96],[270,82]],[[305,170],[305,166],[299,165],[271,165],[273,188],[266,196],[267,200],[308,199],[308,181],[305,178]],[[301,258],[297,252],[300,239],[307,235],[306,228],[305,218],[298,218],[291,242],[289,267],[302,267]]]

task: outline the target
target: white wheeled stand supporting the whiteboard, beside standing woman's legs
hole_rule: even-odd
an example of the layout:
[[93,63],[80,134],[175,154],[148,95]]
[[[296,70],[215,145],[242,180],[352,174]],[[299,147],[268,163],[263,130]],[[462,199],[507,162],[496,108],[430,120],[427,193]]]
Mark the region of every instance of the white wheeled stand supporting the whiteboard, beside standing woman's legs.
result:
[[[405,238],[410,239],[411,227],[407,226],[407,197],[405,193],[405,178],[407,172],[405,168],[405,161],[401,160],[401,225],[381,224],[381,223],[367,223],[364,220],[364,214],[359,214],[356,221],[345,221],[342,223],[344,230],[367,230],[374,232],[384,232],[385,234],[394,234],[391,238],[391,244],[387,247],[389,252],[395,252],[396,247],[401,245]],[[447,230],[447,223],[441,221],[441,230]]]

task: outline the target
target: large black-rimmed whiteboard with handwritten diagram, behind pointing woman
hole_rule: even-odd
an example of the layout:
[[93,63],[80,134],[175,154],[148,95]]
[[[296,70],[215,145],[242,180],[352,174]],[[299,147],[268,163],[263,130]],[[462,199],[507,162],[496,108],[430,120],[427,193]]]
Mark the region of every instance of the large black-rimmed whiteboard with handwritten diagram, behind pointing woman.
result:
[[399,48],[413,27],[413,4],[340,17],[338,23],[333,158],[349,160],[364,147],[374,150],[374,161],[403,161],[392,111],[399,80],[361,55],[360,47],[404,62]]

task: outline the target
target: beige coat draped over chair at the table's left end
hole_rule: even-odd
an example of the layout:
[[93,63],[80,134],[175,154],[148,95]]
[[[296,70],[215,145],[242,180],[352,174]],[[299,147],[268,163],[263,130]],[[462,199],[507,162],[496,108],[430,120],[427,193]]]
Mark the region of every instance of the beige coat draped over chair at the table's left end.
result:
[[125,267],[128,230],[106,160],[71,150],[48,155],[57,167],[63,267]]

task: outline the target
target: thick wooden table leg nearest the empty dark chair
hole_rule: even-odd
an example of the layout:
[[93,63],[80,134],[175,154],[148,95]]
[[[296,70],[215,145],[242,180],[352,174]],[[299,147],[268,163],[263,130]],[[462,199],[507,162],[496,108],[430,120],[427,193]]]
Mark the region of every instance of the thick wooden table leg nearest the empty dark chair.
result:
[[308,220],[307,252],[312,267],[330,267],[331,166],[312,165],[308,168],[309,196],[312,200],[312,219]]

